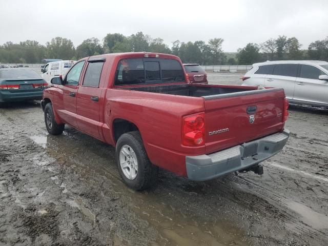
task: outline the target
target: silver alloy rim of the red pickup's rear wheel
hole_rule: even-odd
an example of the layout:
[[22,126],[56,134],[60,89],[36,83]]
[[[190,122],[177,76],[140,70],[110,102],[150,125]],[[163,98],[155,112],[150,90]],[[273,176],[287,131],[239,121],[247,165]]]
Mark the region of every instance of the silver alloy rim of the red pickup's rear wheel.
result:
[[119,164],[123,174],[130,180],[137,177],[138,160],[134,150],[129,145],[124,145],[119,151]]

